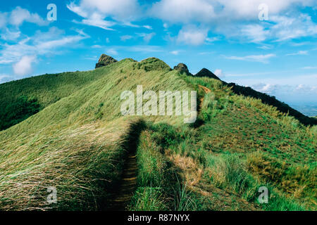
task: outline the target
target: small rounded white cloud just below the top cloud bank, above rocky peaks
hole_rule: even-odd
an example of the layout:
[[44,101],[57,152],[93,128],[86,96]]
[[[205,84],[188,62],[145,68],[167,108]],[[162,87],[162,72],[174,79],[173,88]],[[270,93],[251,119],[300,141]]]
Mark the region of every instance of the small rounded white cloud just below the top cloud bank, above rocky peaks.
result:
[[183,27],[178,33],[178,43],[185,43],[194,46],[204,44],[208,35],[208,30],[199,29],[194,26]]

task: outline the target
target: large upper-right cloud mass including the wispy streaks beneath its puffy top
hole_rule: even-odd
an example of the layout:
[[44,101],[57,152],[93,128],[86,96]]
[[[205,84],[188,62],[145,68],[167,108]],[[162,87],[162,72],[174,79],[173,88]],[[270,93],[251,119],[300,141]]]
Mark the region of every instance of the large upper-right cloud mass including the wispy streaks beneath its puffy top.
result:
[[[268,6],[271,23],[259,21],[260,4]],[[317,0],[161,0],[153,4],[150,12],[168,23],[198,23],[226,37],[252,42],[285,41],[317,34],[309,15],[298,11],[299,7],[316,4]]]

